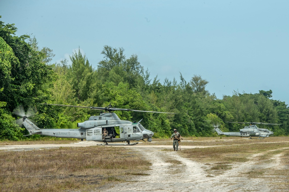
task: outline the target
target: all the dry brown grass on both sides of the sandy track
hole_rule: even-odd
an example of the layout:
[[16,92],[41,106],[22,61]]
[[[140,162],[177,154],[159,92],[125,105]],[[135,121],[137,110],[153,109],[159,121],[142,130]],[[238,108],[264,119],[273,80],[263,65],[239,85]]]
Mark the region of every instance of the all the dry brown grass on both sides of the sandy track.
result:
[[[39,140],[21,142],[0,142],[0,145],[24,144],[66,144],[75,140]],[[171,139],[153,139],[139,145],[172,145]],[[260,168],[244,171],[248,178],[272,180],[276,189],[289,188],[289,137],[247,139],[240,137],[184,138],[181,145],[218,146],[183,149],[181,156],[198,161],[208,167],[207,177],[231,168],[236,162],[247,162],[255,157]],[[131,148],[133,149],[133,147]],[[168,149],[164,149],[166,151]],[[168,150],[168,151],[171,151]],[[275,155],[281,155],[281,168],[266,168],[262,165],[273,162]],[[148,161],[123,147],[65,147],[37,151],[0,151],[0,191],[90,191],[101,189],[109,183],[129,180],[131,176],[147,175],[151,165]],[[166,159],[167,163],[181,164],[181,161]],[[132,166],[133,165],[133,166]],[[178,170],[171,174],[177,174]],[[281,181],[276,181],[281,178]],[[273,183],[274,182],[274,183]]]

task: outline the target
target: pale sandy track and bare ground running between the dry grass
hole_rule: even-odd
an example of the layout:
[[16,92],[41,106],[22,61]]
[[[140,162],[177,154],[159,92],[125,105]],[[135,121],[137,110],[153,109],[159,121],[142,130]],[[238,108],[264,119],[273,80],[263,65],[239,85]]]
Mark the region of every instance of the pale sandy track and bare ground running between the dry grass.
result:
[[[0,146],[0,150],[32,150],[55,147],[85,147],[97,145],[97,142],[83,141],[64,145],[10,145]],[[107,146],[105,146],[107,147]],[[222,174],[208,174],[206,171],[210,165],[198,163],[181,157],[182,151],[173,151],[171,145],[134,145],[127,146],[140,152],[144,158],[151,163],[151,170],[148,176],[134,176],[131,181],[101,189],[102,192],[109,191],[203,191],[203,192],[227,192],[227,191],[284,191],[275,189],[270,179],[247,178],[245,172],[258,168],[282,169],[280,155],[275,155],[271,163],[260,164],[256,161],[259,154],[254,154],[245,163],[232,165],[232,169],[224,170]],[[203,147],[203,146],[181,146],[182,149]],[[162,149],[172,149],[164,151]],[[182,164],[166,163],[166,159],[176,159]],[[280,182],[280,178],[275,178],[274,182]],[[289,191],[289,190],[286,190]]]

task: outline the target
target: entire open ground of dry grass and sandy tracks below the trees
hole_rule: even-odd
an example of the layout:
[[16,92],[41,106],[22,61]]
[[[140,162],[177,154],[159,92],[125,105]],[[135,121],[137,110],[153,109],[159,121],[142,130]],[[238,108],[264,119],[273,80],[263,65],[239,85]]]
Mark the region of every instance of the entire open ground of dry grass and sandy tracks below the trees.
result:
[[185,140],[178,152],[163,145],[168,140],[127,147],[86,141],[0,146],[0,190],[288,191],[288,137]]

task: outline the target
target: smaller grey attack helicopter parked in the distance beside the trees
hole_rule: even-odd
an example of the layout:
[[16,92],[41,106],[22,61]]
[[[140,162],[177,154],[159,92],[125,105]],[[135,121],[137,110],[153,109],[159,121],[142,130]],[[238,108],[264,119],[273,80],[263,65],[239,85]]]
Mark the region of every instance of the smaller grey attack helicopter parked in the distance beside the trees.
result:
[[[229,136],[240,136],[240,137],[259,137],[259,139],[264,139],[265,137],[269,137],[273,135],[273,131],[269,131],[268,129],[261,129],[256,126],[256,124],[265,124],[265,125],[281,125],[281,124],[273,124],[273,123],[245,123],[245,122],[227,122],[226,123],[243,123],[250,124],[249,126],[245,126],[243,129],[240,129],[240,132],[222,132],[216,125],[213,125],[214,129],[218,133],[218,135],[229,135]],[[262,137],[262,138],[260,138]]]

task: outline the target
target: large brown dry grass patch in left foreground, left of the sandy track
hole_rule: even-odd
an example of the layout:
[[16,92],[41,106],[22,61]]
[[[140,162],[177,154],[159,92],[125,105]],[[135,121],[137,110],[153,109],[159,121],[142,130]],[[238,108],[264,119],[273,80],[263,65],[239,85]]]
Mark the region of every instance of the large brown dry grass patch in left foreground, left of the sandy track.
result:
[[87,191],[147,175],[151,165],[120,147],[1,150],[0,159],[0,191]]

